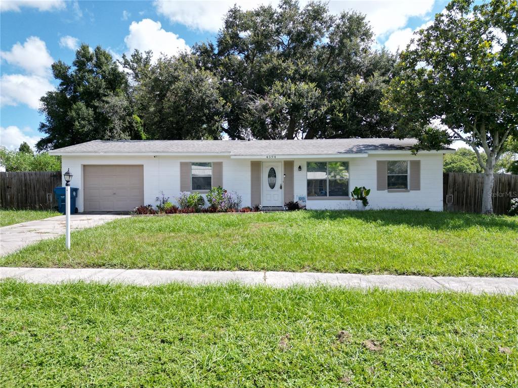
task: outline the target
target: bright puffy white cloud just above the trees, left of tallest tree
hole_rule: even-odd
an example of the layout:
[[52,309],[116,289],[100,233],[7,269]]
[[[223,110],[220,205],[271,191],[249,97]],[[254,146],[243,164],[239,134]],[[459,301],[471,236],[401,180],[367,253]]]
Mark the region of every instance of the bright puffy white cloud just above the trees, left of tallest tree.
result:
[[124,38],[129,53],[135,49],[140,51],[152,50],[153,54],[176,55],[189,50],[185,40],[178,35],[165,31],[160,22],[151,19],[143,19],[140,22],[132,22],[130,34]]

